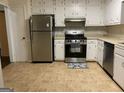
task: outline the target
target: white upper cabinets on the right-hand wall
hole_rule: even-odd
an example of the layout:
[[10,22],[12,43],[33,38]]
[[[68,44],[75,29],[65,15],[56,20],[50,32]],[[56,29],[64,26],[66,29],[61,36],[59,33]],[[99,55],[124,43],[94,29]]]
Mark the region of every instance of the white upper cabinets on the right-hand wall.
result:
[[105,10],[106,25],[118,25],[124,23],[122,0],[106,0],[105,6],[106,6],[106,10]]

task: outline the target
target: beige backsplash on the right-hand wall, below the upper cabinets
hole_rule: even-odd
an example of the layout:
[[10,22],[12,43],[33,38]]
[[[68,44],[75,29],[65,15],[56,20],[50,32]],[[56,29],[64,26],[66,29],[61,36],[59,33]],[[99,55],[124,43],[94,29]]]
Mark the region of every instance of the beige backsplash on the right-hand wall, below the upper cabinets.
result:
[[108,26],[106,28],[109,36],[124,39],[124,25]]

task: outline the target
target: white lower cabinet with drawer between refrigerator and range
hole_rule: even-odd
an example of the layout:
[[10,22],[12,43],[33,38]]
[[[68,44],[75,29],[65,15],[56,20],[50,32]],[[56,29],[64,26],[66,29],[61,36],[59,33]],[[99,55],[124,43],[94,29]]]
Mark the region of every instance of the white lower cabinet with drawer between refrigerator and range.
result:
[[63,61],[65,59],[64,40],[55,40],[55,61]]

